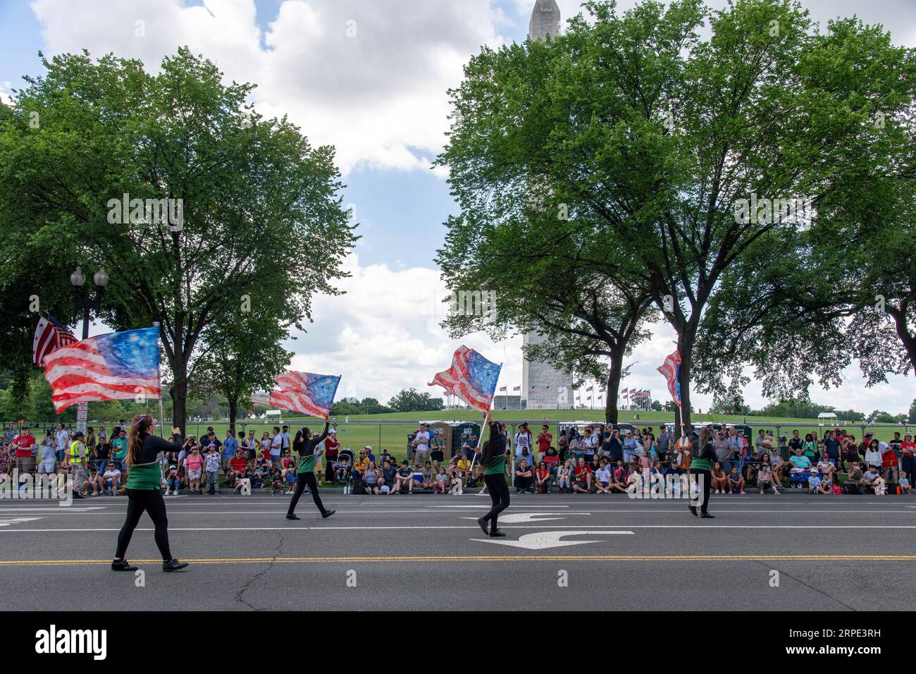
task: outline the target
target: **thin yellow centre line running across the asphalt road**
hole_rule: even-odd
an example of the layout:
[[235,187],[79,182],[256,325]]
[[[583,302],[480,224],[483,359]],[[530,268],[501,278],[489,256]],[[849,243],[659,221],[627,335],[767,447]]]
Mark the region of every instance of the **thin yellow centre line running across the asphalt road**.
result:
[[[193,564],[336,564],[382,561],[916,561],[916,555],[436,555],[427,557],[248,557],[181,558]],[[131,559],[132,564],[160,564],[160,559]],[[110,564],[110,559],[5,559],[0,566]]]

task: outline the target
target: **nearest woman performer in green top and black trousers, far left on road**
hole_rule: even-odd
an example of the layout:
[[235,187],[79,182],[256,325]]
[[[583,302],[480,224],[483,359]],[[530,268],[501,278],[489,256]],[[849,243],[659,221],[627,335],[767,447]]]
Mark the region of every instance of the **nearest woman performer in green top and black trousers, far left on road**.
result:
[[[134,529],[140,522],[140,516],[146,512],[155,526],[154,537],[159,554],[162,556],[163,571],[177,571],[188,566],[171,556],[169,549],[169,520],[166,516],[166,503],[160,490],[159,452],[177,452],[181,448],[181,436],[178,428],[172,428],[172,439],[163,439],[153,435],[156,421],[149,414],[137,414],[130,425],[127,436],[127,515],[124,525],[117,536],[117,549],[112,560],[114,571],[136,571],[136,567],[125,558]],[[77,433],[77,436],[82,434]]]

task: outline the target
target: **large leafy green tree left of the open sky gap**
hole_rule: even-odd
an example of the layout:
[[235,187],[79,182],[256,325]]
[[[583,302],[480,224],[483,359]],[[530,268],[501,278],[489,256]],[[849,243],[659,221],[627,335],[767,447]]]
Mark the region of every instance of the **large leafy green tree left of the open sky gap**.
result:
[[[337,293],[354,234],[333,149],[312,147],[285,117],[258,116],[246,105],[252,84],[224,84],[187,49],[155,74],[85,52],[43,64],[0,127],[0,249],[6,260],[19,240],[90,272],[104,266],[104,321],[159,323],[183,425],[207,326],[278,298],[299,322],[314,293]],[[173,200],[172,217],[134,204],[123,213],[125,194]]]

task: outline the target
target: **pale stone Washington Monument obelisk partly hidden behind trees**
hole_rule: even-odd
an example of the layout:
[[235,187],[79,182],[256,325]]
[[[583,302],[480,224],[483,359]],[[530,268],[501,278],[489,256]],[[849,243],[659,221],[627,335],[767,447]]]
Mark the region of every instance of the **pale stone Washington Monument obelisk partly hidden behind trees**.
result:
[[[560,32],[560,7],[556,0],[537,0],[528,25],[530,39],[545,39]],[[537,332],[522,338],[523,345],[547,341]],[[538,361],[525,359],[521,367],[521,397],[528,409],[573,407],[573,377],[569,373]]]

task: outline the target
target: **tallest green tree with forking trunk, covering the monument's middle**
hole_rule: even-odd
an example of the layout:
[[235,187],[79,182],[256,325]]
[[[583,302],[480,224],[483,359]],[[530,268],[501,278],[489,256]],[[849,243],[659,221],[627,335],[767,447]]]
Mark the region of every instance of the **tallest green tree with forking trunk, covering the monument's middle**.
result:
[[[883,31],[845,20],[820,33],[790,0],[712,12],[647,0],[622,16],[614,2],[586,6],[592,20],[573,18],[551,42],[485,49],[467,65],[451,184],[478,223],[553,193],[602,223],[677,334],[689,423],[694,349],[714,338],[701,321],[724,271],[812,211],[736,206],[818,207],[855,181],[856,158],[880,145],[863,131],[873,102],[909,90],[908,66]],[[469,258],[487,253],[462,241]]]

